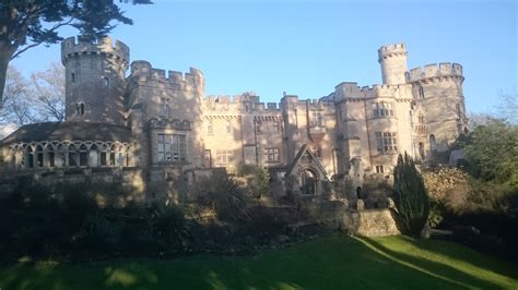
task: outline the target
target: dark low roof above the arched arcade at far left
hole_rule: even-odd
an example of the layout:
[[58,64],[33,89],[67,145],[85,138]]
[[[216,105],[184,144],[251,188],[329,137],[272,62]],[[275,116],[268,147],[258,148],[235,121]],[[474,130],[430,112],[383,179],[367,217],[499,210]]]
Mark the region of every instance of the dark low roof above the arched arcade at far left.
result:
[[131,130],[122,125],[86,122],[45,122],[19,128],[0,144],[39,141],[119,141],[129,142]]

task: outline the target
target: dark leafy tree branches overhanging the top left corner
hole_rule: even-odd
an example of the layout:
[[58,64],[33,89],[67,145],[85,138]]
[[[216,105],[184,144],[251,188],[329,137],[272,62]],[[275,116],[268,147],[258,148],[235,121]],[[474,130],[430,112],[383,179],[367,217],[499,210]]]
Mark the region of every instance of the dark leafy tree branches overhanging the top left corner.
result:
[[[129,0],[119,0],[128,2]],[[131,0],[150,4],[150,0]],[[114,0],[4,0],[0,2],[0,104],[9,62],[38,45],[62,40],[59,28],[72,26],[86,37],[107,35],[116,23],[132,24]]]

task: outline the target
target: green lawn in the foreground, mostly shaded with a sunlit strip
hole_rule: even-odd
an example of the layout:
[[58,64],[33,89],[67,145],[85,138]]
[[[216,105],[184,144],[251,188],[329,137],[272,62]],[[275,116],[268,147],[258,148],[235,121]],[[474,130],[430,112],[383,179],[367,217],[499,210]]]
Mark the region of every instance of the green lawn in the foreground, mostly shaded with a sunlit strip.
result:
[[328,237],[248,256],[0,269],[0,289],[518,289],[518,268],[458,244]]

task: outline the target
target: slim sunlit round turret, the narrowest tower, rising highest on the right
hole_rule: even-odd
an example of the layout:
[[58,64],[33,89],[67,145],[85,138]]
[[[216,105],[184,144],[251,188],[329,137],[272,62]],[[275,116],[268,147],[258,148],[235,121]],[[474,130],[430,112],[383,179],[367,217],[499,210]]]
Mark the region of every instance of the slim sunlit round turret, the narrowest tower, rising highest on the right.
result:
[[404,44],[382,46],[378,49],[378,62],[381,65],[384,84],[404,84],[407,72],[407,48]]

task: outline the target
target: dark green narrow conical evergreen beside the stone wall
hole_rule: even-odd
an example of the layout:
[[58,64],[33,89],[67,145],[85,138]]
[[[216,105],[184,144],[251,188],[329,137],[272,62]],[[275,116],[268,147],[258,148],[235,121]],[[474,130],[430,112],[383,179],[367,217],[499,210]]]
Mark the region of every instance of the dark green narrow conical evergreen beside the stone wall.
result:
[[410,235],[419,235],[428,219],[429,201],[423,178],[412,158],[399,155],[393,169],[393,202],[400,230]]

